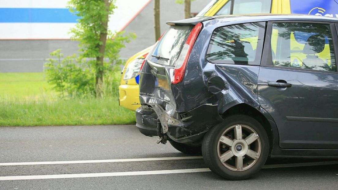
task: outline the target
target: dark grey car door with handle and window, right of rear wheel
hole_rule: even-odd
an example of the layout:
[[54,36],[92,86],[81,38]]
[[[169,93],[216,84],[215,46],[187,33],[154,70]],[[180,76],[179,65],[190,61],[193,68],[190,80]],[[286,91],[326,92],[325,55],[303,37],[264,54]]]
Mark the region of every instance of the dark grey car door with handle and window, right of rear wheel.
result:
[[281,148],[338,148],[337,43],[333,23],[268,22],[258,96]]

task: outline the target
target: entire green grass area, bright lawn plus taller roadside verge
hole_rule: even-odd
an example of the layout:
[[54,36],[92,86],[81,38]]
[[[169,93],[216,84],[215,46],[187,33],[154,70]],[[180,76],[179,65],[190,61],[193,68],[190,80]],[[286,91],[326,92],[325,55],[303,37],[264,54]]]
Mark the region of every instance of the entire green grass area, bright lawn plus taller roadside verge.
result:
[[133,124],[117,98],[60,100],[43,73],[0,73],[0,126]]

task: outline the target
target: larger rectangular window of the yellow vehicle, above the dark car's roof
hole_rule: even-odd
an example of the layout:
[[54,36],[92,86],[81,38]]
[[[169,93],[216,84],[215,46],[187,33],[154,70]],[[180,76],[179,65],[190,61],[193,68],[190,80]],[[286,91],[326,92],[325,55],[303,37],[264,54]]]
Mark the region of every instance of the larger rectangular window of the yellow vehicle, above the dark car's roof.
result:
[[233,14],[270,13],[271,0],[234,0]]

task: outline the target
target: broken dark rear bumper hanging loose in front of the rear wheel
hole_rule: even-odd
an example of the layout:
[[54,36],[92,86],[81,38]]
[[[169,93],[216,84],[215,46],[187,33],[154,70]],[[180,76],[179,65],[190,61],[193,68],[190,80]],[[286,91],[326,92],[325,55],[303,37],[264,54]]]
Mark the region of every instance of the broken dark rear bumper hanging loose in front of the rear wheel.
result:
[[218,114],[217,106],[204,104],[180,114],[182,119],[175,119],[170,117],[159,104],[142,104],[136,110],[136,126],[144,135],[157,136],[156,127],[159,119],[163,132],[170,139],[180,143],[193,143],[200,141],[210,127],[223,120]]

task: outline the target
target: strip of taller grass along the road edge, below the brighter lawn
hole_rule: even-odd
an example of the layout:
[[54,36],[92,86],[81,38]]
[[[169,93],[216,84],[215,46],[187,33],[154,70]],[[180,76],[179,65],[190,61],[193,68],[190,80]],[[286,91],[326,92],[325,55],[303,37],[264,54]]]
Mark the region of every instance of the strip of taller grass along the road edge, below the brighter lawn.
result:
[[0,101],[0,126],[114,125],[135,123],[135,112],[115,98]]

